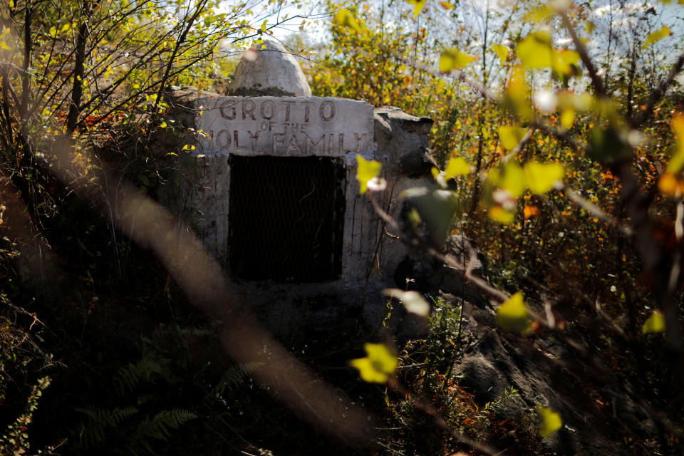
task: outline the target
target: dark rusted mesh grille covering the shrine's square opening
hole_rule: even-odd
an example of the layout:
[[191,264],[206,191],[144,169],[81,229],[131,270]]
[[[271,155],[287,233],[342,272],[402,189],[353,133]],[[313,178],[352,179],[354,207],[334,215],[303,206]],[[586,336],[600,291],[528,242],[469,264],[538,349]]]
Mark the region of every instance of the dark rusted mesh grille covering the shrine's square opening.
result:
[[343,162],[231,155],[229,165],[231,273],[291,282],[340,276]]

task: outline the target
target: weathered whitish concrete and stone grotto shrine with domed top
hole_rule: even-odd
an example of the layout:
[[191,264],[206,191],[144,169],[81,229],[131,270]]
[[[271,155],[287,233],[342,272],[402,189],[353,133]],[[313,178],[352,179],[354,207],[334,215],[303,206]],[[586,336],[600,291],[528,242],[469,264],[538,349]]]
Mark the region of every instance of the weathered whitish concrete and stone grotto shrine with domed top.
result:
[[291,63],[279,66],[281,46],[266,43],[258,54],[268,53],[269,68],[243,62],[230,86],[251,96],[171,94],[175,116],[197,138],[184,185],[165,198],[244,286],[268,290],[264,297],[332,293],[359,306],[368,290],[396,286],[395,271],[411,252],[359,194],[356,155],[383,164],[388,188],[373,198],[399,217],[398,195],[431,185],[432,120],[358,100],[272,96],[306,93],[306,78],[297,66],[299,74],[269,90],[271,73]]

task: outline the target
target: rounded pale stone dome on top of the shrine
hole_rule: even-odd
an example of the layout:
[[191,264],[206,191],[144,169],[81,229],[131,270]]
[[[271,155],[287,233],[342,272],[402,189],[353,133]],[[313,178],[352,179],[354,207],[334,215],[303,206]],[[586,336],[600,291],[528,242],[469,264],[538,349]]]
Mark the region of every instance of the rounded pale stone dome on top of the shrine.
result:
[[235,96],[310,97],[311,87],[294,56],[281,43],[264,40],[254,61],[243,58],[237,64],[228,92]]

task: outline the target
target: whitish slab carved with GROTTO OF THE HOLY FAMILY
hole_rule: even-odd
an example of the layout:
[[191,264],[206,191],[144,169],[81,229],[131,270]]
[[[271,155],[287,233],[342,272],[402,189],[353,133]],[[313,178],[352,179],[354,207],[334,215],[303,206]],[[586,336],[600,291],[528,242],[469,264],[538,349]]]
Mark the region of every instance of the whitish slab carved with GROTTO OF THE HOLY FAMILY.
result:
[[[345,155],[373,147],[373,108],[330,98],[203,100],[200,145],[206,152],[242,155]],[[206,153],[205,152],[205,153]]]

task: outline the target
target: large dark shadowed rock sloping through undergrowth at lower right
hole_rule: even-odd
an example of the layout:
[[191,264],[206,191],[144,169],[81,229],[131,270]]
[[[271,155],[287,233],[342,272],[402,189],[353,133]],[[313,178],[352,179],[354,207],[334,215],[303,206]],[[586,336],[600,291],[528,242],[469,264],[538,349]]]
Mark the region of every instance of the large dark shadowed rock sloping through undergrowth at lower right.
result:
[[[475,342],[453,366],[459,384],[480,405],[515,388],[519,398],[504,410],[502,418],[527,415],[534,419],[538,407],[554,409],[564,425],[543,440],[546,451],[556,455],[632,454],[628,444],[615,439],[615,430],[621,428],[643,440],[655,438],[655,425],[631,398],[629,385],[617,378],[606,378],[605,383],[597,380],[588,362],[589,353],[553,339],[501,331],[494,323],[494,307],[482,300],[477,305],[465,301],[462,315],[468,320],[465,338]],[[608,406],[598,407],[596,398]]]

